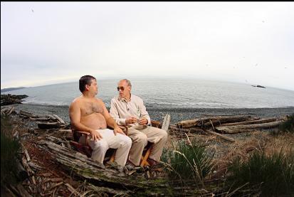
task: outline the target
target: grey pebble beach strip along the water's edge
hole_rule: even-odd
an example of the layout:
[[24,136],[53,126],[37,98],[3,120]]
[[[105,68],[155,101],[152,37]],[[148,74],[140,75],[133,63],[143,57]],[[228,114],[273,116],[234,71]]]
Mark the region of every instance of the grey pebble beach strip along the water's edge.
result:
[[[2,107],[15,107],[15,110],[23,110],[33,115],[58,115],[65,122],[70,122],[68,116],[68,106],[66,105],[33,105],[33,104],[14,104]],[[202,116],[221,116],[221,115],[250,115],[252,117],[282,117],[293,115],[294,107],[275,107],[275,108],[163,108],[146,107],[151,119],[162,122],[164,115],[171,115],[171,124],[182,120],[195,119]],[[108,109],[109,110],[109,109]]]

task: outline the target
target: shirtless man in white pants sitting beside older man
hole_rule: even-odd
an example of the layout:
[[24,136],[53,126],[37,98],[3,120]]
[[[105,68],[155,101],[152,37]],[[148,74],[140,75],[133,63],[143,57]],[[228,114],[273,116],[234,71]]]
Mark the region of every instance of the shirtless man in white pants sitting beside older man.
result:
[[[80,92],[83,95],[75,98],[69,107],[71,127],[75,130],[88,132],[92,136],[89,145],[93,149],[91,158],[103,164],[107,149],[117,149],[115,161],[125,166],[127,156],[132,146],[132,140],[115,123],[108,113],[102,100],[95,97],[98,94],[97,81],[93,76],[80,78]],[[113,130],[107,129],[107,125]],[[83,137],[79,141],[83,142]]]

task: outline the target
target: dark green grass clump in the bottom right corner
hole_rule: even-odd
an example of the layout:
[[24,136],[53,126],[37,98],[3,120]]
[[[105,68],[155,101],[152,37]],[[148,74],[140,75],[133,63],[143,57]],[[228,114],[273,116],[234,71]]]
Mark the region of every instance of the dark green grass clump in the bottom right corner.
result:
[[[290,196],[294,193],[294,154],[266,156],[254,152],[248,161],[233,161],[229,171],[233,173],[233,188],[246,185],[247,189],[261,192],[261,196]],[[243,187],[242,189],[244,189]]]

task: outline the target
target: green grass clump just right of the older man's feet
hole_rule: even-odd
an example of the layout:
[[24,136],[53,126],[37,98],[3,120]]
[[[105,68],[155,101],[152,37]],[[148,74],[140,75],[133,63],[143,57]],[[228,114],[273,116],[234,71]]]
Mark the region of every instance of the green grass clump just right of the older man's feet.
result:
[[169,178],[182,180],[183,183],[193,180],[204,185],[204,178],[211,172],[211,156],[204,147],[192,142],[180,141],[172,151],[164,150],[162,161],[169,166]]

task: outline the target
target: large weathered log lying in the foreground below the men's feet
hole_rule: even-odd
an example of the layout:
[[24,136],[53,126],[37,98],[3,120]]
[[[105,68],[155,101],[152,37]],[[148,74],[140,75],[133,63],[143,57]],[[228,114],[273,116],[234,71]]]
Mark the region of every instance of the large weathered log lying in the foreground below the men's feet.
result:
[[126,188],[133,191],[144,190],[152,193],[154,189],[161,193],[168,193],[166,186],[167,181],[164,179],[147,180],[138,174],[127,176],[113,169],[103,169],[101,164],[94,162],[92,159],[81,156],[76,151],[61,147],[52,142],[41,142],[46,145],[51,152],[54,153],[56,161],[60,163],[68,171],[80,176],[83,179],[88,179],[91,183],[104,182],[118,188]]

